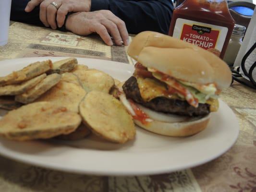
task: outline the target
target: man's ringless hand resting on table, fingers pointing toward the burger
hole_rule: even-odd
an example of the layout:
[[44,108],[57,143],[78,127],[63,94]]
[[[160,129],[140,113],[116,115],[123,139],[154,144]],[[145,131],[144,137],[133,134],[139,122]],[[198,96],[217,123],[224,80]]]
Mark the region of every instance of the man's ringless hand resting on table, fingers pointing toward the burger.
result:
[[66,20],[66,29],[81,36],[98,33],[109,46],[113,45],[111,36],[116,45],[129,44],[124,22],[109,10],[73,13]]

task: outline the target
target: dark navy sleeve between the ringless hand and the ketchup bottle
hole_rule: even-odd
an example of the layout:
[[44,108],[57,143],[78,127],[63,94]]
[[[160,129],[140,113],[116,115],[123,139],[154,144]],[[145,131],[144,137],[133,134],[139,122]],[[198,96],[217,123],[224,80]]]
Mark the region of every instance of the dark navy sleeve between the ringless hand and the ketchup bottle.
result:
[[92,0],[91,11],[97,10],[113,12],[125,22],[128,33],[168,34],[173,4],[171,0]]

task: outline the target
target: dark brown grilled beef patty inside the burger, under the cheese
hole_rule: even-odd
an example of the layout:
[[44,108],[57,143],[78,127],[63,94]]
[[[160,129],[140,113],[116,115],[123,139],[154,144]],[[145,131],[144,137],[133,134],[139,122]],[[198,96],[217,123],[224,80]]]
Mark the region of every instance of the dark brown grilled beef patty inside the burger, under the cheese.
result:
[[134,76],[130,77],[122,86],[126,97],[134,100],[147,108],[155,111],[172,113],[184,116],[201,116],[210,113],[210,106],[208,104],[201,104],[197,108],[189,105],[187,101],[179,99],[169,99],[166,97],[156,97],[148,102],[144,101],[140,95],[137,80]]

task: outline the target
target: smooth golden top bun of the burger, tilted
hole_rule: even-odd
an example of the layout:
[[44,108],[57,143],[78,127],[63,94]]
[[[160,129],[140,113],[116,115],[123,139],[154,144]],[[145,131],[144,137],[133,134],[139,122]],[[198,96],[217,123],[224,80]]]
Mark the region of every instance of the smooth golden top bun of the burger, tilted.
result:
[[139,33],[127,52],[145,67],[187,82],[215,83],[223,89],[232,81],[228,65],[213,53],[157,32]]

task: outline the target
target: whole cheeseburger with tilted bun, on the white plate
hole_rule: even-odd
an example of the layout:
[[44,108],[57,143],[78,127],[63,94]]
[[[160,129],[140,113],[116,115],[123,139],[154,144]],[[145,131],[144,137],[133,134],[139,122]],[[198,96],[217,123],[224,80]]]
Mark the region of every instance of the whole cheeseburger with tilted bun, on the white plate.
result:
[[119,87],[120,100],[135,124],[161,135],[188,136],[207,127],[219,108],[218,96],[232,81],[219,57],[156,32],[134,37],[128,55],[133,76]]

